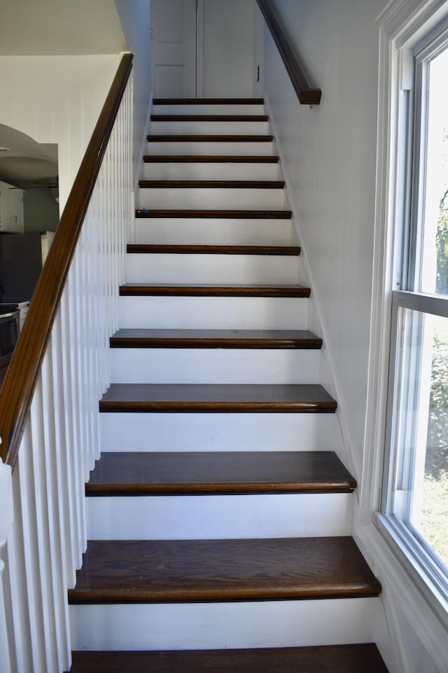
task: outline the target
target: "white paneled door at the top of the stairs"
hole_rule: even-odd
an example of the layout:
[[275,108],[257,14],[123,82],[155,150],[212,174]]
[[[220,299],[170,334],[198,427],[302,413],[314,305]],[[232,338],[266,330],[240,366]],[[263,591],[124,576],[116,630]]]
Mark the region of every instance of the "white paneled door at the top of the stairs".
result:
[[155,98],[196,96],[196,0],[151,1]]

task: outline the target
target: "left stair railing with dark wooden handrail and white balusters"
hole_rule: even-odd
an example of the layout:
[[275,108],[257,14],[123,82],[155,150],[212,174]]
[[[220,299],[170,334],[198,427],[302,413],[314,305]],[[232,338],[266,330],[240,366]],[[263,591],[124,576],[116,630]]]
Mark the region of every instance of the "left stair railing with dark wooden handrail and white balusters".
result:
[[80,165],[0,391],[0,670],[71,666],[67,590],[133,222],[132,55]]

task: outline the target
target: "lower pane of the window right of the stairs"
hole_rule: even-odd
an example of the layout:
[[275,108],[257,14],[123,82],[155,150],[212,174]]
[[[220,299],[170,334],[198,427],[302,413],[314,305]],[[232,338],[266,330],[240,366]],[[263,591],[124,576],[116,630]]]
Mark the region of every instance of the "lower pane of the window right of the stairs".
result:
[[448,319],[398,318],[393,515],[448,566]]

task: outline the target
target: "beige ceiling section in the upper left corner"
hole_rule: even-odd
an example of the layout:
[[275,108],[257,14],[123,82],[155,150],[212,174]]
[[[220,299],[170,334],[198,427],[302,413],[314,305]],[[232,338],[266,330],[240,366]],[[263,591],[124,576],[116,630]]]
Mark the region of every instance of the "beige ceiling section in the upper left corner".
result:
[[114,0],[0,0],[0,55],[127,50]]

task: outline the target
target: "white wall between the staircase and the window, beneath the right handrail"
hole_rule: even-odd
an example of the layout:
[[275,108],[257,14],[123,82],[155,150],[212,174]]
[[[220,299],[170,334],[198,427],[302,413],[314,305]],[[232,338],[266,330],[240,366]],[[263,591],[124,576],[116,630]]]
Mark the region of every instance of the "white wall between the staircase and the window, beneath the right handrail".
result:
[[[274,0],[283,27],[323,90],[300,105],[272,38],[265,38],[265,92],[323,313],[332,392],[351,435],[360,477],[365,423],[374,226],[378,29],[385,0]],[[327,358],[328,360],[328,358]],[[328,385],[330,382],[325,381]],[[349,447],[350,451],[350,447]]]

